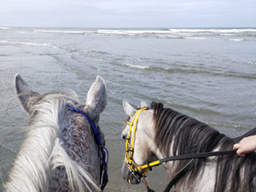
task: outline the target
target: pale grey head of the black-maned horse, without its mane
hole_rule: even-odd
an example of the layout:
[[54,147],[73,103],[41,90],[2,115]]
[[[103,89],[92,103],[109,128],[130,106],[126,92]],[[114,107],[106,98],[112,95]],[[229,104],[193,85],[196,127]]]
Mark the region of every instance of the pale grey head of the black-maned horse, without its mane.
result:
[[[141,108],[147,108],[148,104],[146,102],[141,102]],[[129,102],[123,102],[123,108],[125,113],[128,115],[127,122],[131,122],[137,110],[133,108]],[[138,115],[138,114],[137,114]],[[125,128],[122,132],[122,137],[126,140],[130,131],[129,124],[125,123]],[[154,121],[153,121],[153,111],[143,111],[139,114],[137,120],[137,130],[136,134],[134,132],[135,126],[131,127],[130,143],[131,138],[134,137],[134,148],[133,148],[133,161],[137,166],[143,166],[148,163],[148,161],[156,160],[154,145],[154,133],[153,133]],[[135,134],[135,135],[134,135]],[[140,175],[143,175],[144,170],[139,171],[140,175],[132,174],[127,166],[127,160],[125,158],[125,163],[122,168],[123,178],[132,184],[140,183]]]

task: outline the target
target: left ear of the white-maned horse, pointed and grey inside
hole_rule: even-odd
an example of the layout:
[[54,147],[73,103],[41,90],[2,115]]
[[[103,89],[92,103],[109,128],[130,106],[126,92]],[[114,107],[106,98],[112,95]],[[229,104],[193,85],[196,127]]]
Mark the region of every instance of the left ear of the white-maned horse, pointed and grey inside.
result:
[[15,75],[15,93],[19,98],[21,106],[27,113],[29,113],[39,94],[34,92],[32,88],[30,88],[30,86],[26,84],[23,79],[21,79],[19,74]]

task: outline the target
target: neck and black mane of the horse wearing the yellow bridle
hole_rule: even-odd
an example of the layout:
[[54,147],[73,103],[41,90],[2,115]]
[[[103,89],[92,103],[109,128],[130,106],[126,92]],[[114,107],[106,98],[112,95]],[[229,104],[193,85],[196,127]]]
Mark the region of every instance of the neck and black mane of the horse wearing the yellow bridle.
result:
[[[179,154],[195,154],[210,150],[231,150],[240,138],[231,139],[199,122],[170,109],[158,108],[154,113],[154,143],[158,147],[159,159]],[[163,117],[162,113],[165,114]],[[170,116],[172,118],[170,118]],[[166,129],[160,125],[168,125]],[[255,134],[250,131],[243,137]],[[166,137],[167,136],[167,137]],[[219,138],[221,137],[221,139]],[[219,142],[218,142],[218,139]],[[214,140],[218,142],[212,146]],[[211,149],[212,148],[212,149]],[[247,154],[245,158],[223,156],[219,158],[195,159],[191,162],[189,172],[176,183],[177,191],[253,191],[256,186],[255,154]],[[172,179],[181,171],[189,160],[178,160],[165,163],[167,172]],[[236,171],[236,174],[234,173]],[[247,182],[250,181],[250,182]]]

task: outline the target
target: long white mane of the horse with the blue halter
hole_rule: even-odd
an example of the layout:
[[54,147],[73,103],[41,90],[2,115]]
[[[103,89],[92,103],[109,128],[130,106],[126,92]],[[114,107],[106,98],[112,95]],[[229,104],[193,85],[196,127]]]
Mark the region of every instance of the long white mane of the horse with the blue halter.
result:
[[9,182],[5,184],[8,192],[49,191],[51,172],[57,166],[65,166],[70,189],[84,191],[84,186],[88,187],[89,183],[101,191],[90,175],[71,160],[59,139],[67,104],[75,106],[78,103],[76,95],[62,91],[39,96],[38,104],[32,107],[26,140],[9,174]]

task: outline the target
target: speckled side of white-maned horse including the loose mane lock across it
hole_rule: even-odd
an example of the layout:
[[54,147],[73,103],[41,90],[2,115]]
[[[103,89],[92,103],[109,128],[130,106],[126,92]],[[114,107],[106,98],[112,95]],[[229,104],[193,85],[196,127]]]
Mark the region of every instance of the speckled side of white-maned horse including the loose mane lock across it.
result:
[[[84,187],[98,191],[100,160],[90,123],[82,114],[67,109],[66,105],[64,114],[59,129],[60,142],[55,142],[50,156],[52,167],[57,167],[51,175],[50,189],[69,191],[76,186],[79,191],[83,191]],[[60,166],[64,166],[66,171]]]

